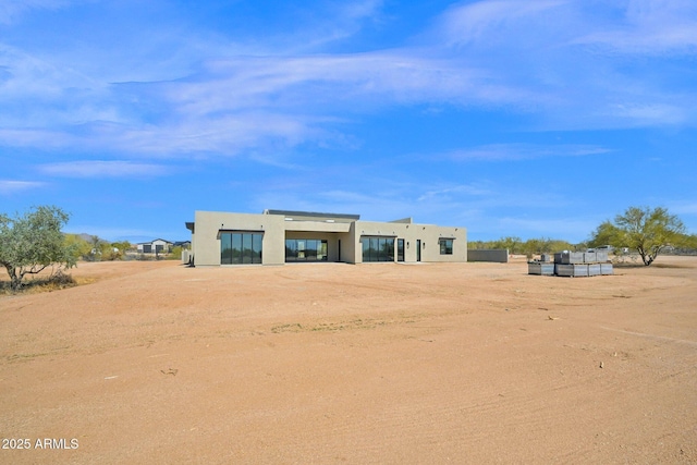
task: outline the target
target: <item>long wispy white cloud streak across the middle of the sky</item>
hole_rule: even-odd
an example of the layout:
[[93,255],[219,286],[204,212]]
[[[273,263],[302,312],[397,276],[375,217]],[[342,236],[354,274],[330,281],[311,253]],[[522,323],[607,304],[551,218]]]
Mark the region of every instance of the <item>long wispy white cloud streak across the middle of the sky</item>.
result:
[[[486,73],[409,50],[355,54],[258,57],[206,63],[201,74],[163,85],[168,101],[187,114],[249,108],[348,110],[395,102],[506,100]],[[508,99],[515,96],[508,97]]]

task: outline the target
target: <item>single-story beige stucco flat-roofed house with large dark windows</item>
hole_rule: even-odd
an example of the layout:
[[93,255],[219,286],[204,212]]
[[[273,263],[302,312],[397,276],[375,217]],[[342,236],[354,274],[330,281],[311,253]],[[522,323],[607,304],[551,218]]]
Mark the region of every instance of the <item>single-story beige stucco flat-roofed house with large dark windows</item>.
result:
[[375,222],[308,211],[196,211],[186,228],[192,232],[186,261],[194,266],[467,261],[465,228],[417,224],[411,218]]

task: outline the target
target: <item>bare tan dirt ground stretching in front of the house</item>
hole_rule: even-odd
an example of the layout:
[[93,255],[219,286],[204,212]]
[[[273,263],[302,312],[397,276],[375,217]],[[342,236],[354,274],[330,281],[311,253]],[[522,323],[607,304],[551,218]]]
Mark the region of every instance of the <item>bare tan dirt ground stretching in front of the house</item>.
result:
[[73,276],[0,296],[2,464],[697,463],[697,257]]

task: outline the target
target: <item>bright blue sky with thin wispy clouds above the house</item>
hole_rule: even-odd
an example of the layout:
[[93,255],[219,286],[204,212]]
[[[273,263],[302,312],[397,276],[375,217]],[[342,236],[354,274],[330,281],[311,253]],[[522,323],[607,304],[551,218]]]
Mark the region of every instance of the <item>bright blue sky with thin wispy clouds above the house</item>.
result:
[[0,0],[0,211],[112,241],[265,208],[695,233],[696,129],[694,0]]

